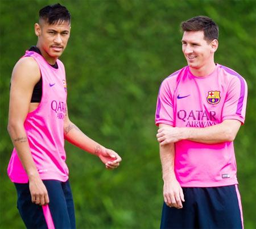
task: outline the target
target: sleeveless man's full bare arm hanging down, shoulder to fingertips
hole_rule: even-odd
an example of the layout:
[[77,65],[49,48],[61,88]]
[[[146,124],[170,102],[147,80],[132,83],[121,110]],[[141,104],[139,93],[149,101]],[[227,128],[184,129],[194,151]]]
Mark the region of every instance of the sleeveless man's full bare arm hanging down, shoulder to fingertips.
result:
[[24,129],[32,91],[39,80],[39,66],[32,57],[22,58],[16,63],[11,77],[8,132],[30,180],[31,200],[44,205],[49,202],[47,190],[32,159]]

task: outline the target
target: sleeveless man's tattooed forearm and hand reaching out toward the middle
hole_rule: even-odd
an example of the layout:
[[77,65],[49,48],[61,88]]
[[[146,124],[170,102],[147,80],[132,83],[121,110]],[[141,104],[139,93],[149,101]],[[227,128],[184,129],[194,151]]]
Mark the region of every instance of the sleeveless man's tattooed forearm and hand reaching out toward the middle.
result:
[[102,163],[104,163],[108,169],[117,168],[122,160],[112,149],[107,149],[86,136],[71,122],[68,117],[68,110],[64,120],[64,138],[84,151],[100,157]]

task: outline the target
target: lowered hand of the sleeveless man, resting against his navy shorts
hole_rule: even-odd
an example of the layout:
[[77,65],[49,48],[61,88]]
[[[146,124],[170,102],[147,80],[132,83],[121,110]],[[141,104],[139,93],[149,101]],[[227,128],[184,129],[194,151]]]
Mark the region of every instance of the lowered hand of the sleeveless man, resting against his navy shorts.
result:
[[31,194],[31,201],[36,205],[48,205],[49,197],[46,186],[39,178],[30,178],[29,188]]

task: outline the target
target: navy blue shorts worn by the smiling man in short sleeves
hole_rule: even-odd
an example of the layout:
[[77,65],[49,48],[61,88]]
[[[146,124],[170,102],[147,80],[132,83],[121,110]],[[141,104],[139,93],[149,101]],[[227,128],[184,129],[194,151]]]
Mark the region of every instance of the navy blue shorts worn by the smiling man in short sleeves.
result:
[[160,228],[243,228],[237,185],[182,189],[183,208],[164,203]]

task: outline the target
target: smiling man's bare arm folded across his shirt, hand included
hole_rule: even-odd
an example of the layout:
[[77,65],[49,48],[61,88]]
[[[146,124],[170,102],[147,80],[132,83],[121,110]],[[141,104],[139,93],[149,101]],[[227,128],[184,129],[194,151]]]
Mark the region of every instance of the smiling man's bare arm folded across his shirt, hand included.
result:
[[191,140],[205,144],[216,144],[233,141],[241,126],[235,119],[224,120],[222,123],[205,128],[163,127],[159,128],[156,137],[160,145],[175,143],[180,140]]

